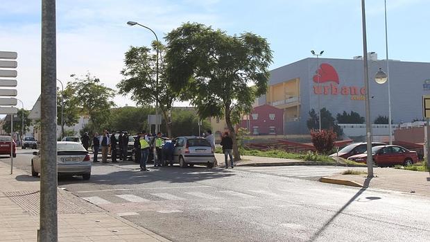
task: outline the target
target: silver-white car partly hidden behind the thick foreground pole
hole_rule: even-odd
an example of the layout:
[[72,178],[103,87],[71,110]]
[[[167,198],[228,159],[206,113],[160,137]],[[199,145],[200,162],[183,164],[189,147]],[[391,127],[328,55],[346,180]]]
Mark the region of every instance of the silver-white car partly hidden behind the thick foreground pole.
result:
[[[31,159],[31,175],[39,175],[40,151],[33,152]],[[58,175],[82,175],[84,180],[91,177],[92,162],[88,151],[82,144],[69,141],[57,142],[57,170]]]

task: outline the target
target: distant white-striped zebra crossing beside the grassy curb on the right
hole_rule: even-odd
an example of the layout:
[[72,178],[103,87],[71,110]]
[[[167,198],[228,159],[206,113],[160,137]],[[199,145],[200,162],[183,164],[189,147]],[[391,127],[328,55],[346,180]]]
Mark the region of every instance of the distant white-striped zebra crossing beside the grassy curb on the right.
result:
[[295,178],[317,178],[345,171],[343,166],[241,166],[238,170]]

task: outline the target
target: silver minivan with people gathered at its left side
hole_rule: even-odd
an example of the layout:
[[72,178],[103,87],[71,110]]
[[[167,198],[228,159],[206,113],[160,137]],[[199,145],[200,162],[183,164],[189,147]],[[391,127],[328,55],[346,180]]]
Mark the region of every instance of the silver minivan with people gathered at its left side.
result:
[[181,136],[175,139],[174,162],[180,167],[205,164],[214,167],[215,155],[211,144],[203,137]]

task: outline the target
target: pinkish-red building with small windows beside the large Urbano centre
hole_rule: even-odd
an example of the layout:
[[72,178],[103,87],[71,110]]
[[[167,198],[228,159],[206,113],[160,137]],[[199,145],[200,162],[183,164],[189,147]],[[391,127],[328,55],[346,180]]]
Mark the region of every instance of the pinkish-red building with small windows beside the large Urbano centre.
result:
[[250,130],[250,135],[284,135],[283,124],[284,110],[264,104],[243,116],[239,128]]

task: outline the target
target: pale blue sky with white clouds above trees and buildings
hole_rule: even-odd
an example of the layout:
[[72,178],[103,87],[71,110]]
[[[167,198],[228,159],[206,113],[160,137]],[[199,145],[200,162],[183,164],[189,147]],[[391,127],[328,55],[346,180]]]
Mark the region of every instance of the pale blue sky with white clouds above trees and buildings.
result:
[[[430,1],[386,0],[386,6],[389,58],[430,62]],[[56,9],[57,78],[65,85],[71,74],[89,73],[116,89],[124,53],[154,39],[127,21],[152,28],[162,42],[188,21],[229,35],[255,33],[273,51],[270,69],[310,58],[311,50],[325,51],[322,58],[363,55],[360,0],[58,0]],[[368,51],[385,59],[384,0],[366,1],[365,10]],[[1,0],[0,12],[0,51],[18,53],[17,98],[31,110],[40,95],[41,1]],[[114,102],[135,105],[130,96]]]

